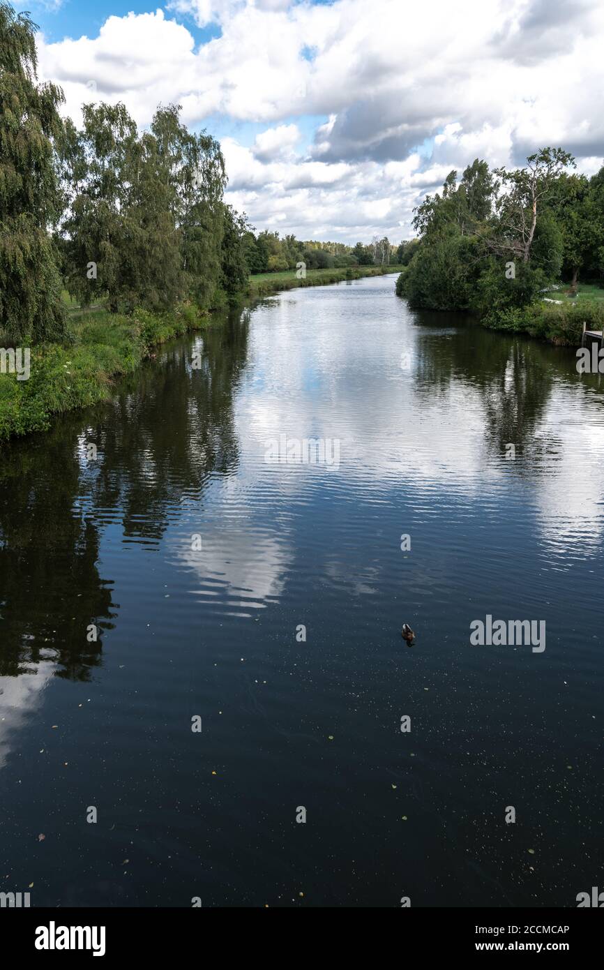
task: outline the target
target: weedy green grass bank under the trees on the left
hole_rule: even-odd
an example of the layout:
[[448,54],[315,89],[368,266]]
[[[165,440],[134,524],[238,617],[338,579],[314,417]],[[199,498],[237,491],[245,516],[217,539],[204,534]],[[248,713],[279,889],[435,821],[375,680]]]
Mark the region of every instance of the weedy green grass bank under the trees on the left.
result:
[[211,323],[193,306],[161,315],[76,311],[70,320],[69,345],[31,348],[28,380],[0,373],[0,441],[45,431],[55,414],[106,401],[113,381],[136,371],[154,346]]

